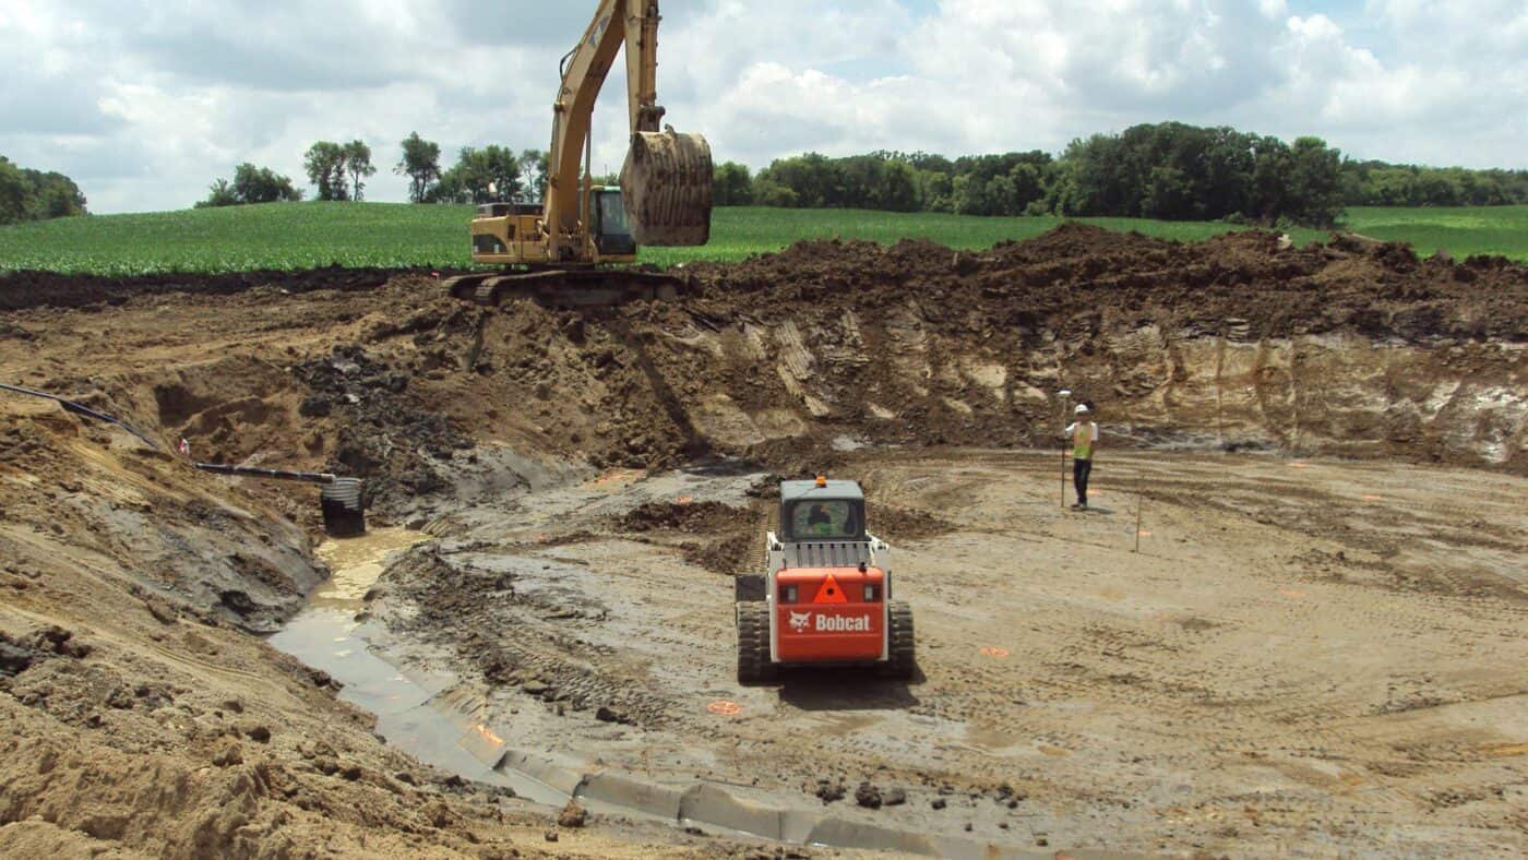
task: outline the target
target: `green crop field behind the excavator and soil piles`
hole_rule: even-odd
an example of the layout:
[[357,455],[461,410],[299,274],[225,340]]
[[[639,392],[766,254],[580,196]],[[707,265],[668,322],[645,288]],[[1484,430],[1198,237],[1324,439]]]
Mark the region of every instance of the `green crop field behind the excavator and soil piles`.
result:
[[[241,272],[318,266],[466,267],[471,206],[402,203],[272,203],[131,215],[90,215],[0,228],[0,270],[139,275]],[[1227,232],[1224,223],[1079,218],[1112,231],[1183,241]],[[717,209],[704,247],[645,249],[643,260],[743,260],[801,238],[931,238],[958,249],[1039,235],[1060,218],[865,212],[853,209]],[[1410,241],[1420,254],[1500,254],[1528,261],[1528,206],[1349,211],[1348,228]],[[1294,231],[1297,243],[1325,238]]]

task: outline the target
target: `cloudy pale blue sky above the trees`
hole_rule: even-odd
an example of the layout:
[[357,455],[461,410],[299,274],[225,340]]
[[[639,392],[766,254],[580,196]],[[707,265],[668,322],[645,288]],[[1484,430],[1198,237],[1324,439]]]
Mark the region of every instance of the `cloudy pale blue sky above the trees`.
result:
[[[361,137],[545,147],[594,0],[0,0],[0,154],[96,212],[189,206],[238,162],[293,179]],[[1059,151],[1177,119],[1397,162],[1528,168],[1525,0],[665,0],[660,102],[718,160]],[[617,69],[620,64],[617,64]],[[596,118],[619,170],[625,78]]]

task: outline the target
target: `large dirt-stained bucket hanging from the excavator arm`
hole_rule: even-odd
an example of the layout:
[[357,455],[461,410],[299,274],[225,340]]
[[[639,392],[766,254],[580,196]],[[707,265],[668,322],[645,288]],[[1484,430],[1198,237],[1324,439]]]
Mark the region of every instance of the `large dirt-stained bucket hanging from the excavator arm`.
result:
[[711,144],[672,128],[639,131],[620,171],[620,197],[637,244],[711,240]]

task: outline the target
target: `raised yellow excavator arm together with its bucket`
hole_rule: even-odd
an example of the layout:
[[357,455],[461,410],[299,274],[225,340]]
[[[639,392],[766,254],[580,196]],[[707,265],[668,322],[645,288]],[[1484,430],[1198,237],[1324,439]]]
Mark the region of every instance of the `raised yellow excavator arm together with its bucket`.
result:
[[[631,147],[620,173],[626,221],[640,244],[704,244],[711,237],[711,147],[698,134],[660,131],[657,104],[657,0],[601,0],[579,44],[564,58],[553,105],[544,225],[549,257],[568,260],[588,225],[581,165],[590,145],[594,102],[616,53],[626,49]],[[585,174],[587,176],[587,174]]]

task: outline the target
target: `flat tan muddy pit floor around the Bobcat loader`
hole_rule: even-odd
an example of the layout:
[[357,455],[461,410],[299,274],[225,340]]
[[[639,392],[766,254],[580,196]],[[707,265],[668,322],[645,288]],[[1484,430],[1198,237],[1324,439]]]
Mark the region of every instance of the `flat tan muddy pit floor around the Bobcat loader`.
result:
[[[613,527],[680,495],[733,509],[761,478],[715,469],[461,512],[379,580],[368,613],[394,632],[377,642],[451,668],[469,719],[553,756],[542,776],[714,787],[755,810],[726,819],[752,833],[827,808],[856,834],[830,845],[944,854],[1510,854],[1528,837],[1520,478],[1117,452],[1079,515],[1044,454],[880,451],[845,469],[880,487],[871,529],[882,506],[950,516],[892,556],[918,609],[912,684],[733,683],[730,582]],[[1449,503],[1464,487],[1468,515]],[[1439,785],[1470,810],[1433,802]],[[909,842],[874,842],[895,834]]]

